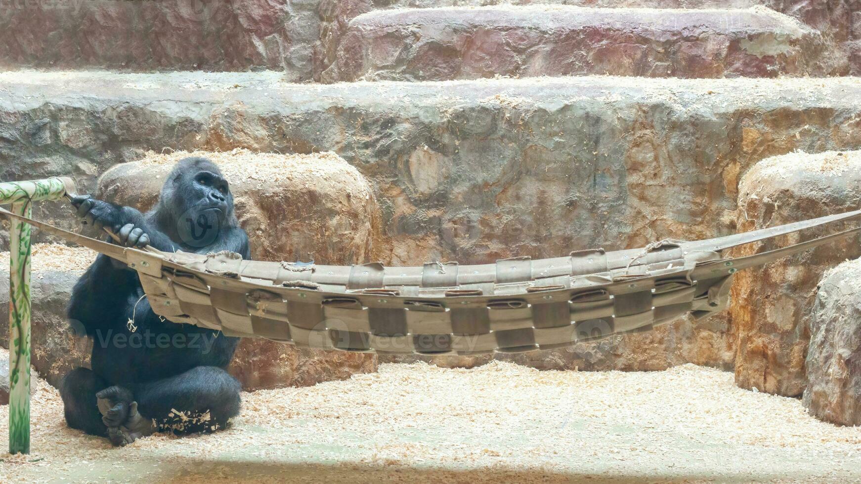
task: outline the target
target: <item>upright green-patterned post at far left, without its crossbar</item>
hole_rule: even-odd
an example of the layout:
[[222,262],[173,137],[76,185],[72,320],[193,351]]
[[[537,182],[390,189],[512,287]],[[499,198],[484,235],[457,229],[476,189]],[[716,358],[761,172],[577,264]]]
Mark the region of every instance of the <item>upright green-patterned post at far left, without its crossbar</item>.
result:
[[[29,199],[12,212],[30,217]],[[12,221],[9,232],[9,453],[30,453],[30,224]]]

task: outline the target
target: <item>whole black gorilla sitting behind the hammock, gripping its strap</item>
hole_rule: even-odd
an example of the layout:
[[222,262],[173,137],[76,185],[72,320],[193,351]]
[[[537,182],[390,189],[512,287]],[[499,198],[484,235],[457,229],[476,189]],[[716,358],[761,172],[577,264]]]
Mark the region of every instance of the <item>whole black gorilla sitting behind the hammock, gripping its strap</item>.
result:
[[[230,250],[251,259],[227,182],[205,158],[178,162],[146,214],[86,195],[72,203],[84,224],[113,230],[127,247]],[[157,430],[224,428],[239,410],[239,383],[225,371],[238,339],[162,321],[143,296],[137,273],[105,255],[77,281],[68,315],[93,339],[92,370],[64,377],[66,422],[115,445]]]

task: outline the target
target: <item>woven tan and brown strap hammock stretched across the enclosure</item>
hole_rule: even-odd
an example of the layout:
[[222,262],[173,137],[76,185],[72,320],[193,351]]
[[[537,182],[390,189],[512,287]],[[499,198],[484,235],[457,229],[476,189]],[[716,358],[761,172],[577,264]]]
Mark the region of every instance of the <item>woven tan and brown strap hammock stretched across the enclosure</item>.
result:
[[122,248],[0,209],[137,271],[152,310],[241,337],[352,352],[470,355],[528,352],[648,331],[725,309],[733,274],[815,248],[861,227],[746,257],[722,252],[861,211],[698,242],[581,250],[567,257],[461,266],[303,266],[238,254]]

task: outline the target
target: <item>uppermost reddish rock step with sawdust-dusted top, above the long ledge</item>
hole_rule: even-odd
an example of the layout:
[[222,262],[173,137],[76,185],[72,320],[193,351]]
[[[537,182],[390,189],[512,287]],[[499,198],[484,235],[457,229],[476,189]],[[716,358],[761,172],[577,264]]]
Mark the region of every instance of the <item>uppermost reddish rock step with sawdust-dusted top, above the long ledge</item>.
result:
[[827,50],[819,32],[765,7],[387,9],[350,21],[333,80],[821,76],[834,70]]

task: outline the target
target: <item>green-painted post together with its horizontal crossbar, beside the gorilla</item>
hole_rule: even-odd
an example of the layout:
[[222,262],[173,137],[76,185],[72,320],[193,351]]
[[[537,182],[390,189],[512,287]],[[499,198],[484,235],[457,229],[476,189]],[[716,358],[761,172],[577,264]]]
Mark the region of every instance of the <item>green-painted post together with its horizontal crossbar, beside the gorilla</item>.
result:
[[[0,205],[30,217],[34,200],[74,193],[74,181],[51,178],[0,183]],[[9,230],[9,453],[30,453],[30,224],[12,221]]]

